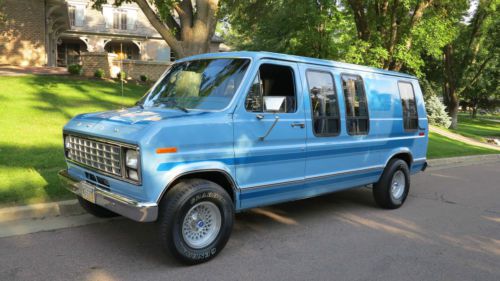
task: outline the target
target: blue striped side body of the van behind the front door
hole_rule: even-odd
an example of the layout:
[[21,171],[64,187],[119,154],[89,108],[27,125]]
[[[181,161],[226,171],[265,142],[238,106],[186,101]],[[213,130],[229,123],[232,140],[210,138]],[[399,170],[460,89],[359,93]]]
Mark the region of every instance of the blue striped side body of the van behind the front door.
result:
[[[326,67],[301,65],[304,91],[308,92],[306,72],[326,71],[333,75],[338,96],[340,113],[340,133],[336,136],[316,136],[311,120],[311,102],[305,95],[307,124],[306,178],[312,188],[326,188],[329,191],[355,187],[378,181],[389,159],[397,153],[407,152],[413,159],[425,160],[427,136],[419,136],[420,130],[405,131],[403,108],[399,95],[398,81],[413,85],[420,117],[419,125],[427,128],[423,98],[418,81],[393,75]],[[369,132],[367,135],[349,135],[346,127],[345,98],[342,89],[342,75],[359,75],[363,79],[368,102]],[[422,159],[423,158],[423,159]],[[423,165],[423,162],[421,163]],[[420,166],[421,167],[421,166]],[[315,180],[329,174],[354,173],[353,180],[334,183]],[[336,185],[336,186],[332,186]]]

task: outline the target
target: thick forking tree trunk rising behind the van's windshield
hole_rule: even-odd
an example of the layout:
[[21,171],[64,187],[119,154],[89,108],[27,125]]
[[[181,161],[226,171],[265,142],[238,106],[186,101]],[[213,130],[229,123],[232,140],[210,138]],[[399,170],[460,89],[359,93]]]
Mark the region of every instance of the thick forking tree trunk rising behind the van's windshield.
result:
[[[100,9],[107,0],[93,0]],[[206,53],[215,33],[219,0],[114,0],[135,2],[177,58]]]

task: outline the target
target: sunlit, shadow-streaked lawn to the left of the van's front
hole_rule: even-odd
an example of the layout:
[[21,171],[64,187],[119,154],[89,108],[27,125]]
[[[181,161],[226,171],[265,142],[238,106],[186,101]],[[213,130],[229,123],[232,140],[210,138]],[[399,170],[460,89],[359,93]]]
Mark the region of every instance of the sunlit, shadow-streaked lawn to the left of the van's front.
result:
[[145,86],[66,76],[0,77],[0,205],[68,198],[62,127],[84,112],[132,105]]

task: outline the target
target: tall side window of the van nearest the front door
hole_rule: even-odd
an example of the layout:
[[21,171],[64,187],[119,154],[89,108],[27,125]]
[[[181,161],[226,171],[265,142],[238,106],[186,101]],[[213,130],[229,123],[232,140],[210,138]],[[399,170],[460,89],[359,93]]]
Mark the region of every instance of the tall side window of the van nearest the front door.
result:
[[323,71],[307,71],[313,130],[316,136],[338,135],[340,115],[333,76]]

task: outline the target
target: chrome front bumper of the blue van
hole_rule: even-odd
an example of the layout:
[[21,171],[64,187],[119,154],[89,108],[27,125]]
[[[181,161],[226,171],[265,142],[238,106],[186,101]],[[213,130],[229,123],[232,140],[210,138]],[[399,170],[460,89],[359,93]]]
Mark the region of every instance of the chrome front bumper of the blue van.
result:
[[[63,186],[74,194],[81,196],[82,184],[68,174],[67,170],[59,171],[59,179]],[[106,191],[93,185],[95,188],[95,203],[129,219],[140,222],[152,222],[158,217],[158,205],[151,202],[137,202],[133,199]]]

